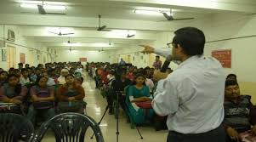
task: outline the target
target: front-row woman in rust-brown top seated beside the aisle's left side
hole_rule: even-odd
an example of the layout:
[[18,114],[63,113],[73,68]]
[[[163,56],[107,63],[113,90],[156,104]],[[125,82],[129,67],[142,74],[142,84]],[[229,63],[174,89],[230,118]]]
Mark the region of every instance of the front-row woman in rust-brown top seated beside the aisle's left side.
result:
[[81,85],[75,82],[73,75],[65,77],[65,84],[57,91],[59,99],[58,109],[60,112],[80,112],[83,113],[86,103],[83,101],[85,94]]

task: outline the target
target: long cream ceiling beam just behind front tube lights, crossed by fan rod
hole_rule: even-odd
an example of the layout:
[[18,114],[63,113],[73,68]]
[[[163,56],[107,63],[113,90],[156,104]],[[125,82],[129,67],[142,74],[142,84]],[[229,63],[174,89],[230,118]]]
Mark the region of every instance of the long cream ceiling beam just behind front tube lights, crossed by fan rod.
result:
[[[68,17],[64,15],[0,14],[0,24],[18,26],[64,26],[96,29],[99,26],[99,19]],[[102,25],[106,25],[109,29],[172,31],[172,26],[168,22],[145,20],[104,19],[102,20]]]

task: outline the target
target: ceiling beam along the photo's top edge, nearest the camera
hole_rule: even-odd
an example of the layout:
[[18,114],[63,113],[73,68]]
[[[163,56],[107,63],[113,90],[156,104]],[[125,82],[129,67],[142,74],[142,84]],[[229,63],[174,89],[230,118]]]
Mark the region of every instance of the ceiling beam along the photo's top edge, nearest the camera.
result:
[[[48,0],[63,2],[63,0]],[[70,6],[106,5],[106,6],[143,6],[172,9],[209,9],[255,13],[254,0],[72,0]]]

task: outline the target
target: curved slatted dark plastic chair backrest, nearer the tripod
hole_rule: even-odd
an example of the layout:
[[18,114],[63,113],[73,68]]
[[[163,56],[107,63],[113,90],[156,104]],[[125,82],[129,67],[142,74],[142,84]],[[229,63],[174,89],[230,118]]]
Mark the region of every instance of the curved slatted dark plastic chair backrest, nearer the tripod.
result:
[[88,128],[94,131],[97,142],[104,142],[100,127],[89,116],[68,112],[44,122],[35,134],[34,142],[40,142],[48,128],[54,131],[56,142],[83,142]]

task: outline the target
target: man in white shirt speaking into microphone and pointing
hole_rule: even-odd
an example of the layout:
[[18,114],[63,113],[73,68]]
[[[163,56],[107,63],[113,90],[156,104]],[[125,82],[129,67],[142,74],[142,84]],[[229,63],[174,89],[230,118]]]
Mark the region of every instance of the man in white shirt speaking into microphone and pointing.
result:
[[[185,27],[174,33],[172,60],[181,64],[170,75],[155,72],[159,82],[152,101],[156,114],[168,116],[168,142],[225,142],[225,72],[218,60],[203,57],[202,31]],[[144,47],[145,53],[157,53]]]

